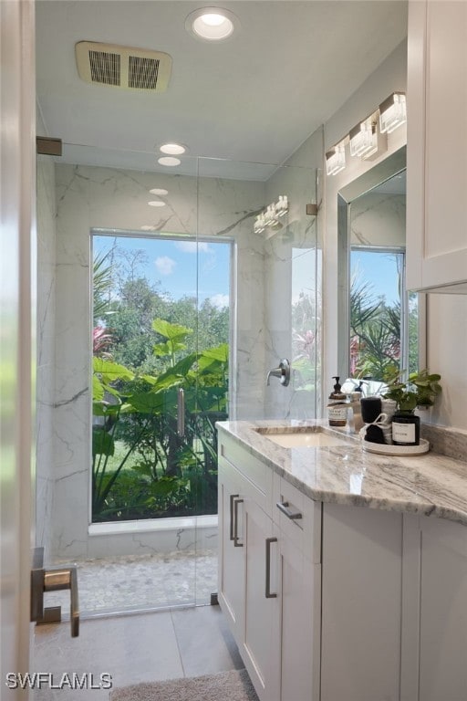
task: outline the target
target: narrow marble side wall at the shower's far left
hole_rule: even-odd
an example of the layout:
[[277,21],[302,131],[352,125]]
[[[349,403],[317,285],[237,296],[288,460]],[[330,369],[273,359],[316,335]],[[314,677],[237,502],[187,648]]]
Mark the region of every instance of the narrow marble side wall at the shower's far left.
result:
[[52,539],[56,316],[56,200],[54,162],[37,156],[36,545],[46,557]]

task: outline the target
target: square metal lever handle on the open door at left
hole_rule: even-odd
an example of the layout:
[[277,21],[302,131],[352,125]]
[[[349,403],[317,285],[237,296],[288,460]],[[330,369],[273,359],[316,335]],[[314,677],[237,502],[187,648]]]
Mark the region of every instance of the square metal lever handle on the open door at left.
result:
[[62,619],[60,606],[44,608],[45,591],[62,591],[69,589],[69,619],[71,637],[79,635],[78,574],[76,567],[62,570],[44,569],[44,548],[35,548],[31,569],[31,621],[40,623],[59,623]]

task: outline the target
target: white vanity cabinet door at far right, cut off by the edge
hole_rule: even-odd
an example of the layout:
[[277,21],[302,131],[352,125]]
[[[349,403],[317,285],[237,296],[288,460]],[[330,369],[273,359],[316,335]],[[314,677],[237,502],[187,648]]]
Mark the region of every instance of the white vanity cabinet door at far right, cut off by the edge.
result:
[[420,691],[423,701],[467,698],[467,528],[421,519]]

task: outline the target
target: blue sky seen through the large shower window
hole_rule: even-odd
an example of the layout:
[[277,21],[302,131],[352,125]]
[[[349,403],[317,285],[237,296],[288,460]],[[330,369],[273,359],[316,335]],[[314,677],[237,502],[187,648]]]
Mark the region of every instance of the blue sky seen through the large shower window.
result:
[[[93,238],[95,255],[108,251],[115,240],[114,236]],[[171,298],[196,295],[198,269],[200,303],[211,298],[216,307],[228,306],[230,244],[132,236],[118,236],[117,244],[124,250],[144,251],[148,262],[140,268],[139,275],[147,277],[150,283],[160,282],[161,291],[168,292]]]

